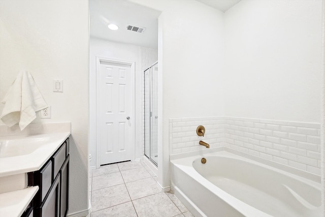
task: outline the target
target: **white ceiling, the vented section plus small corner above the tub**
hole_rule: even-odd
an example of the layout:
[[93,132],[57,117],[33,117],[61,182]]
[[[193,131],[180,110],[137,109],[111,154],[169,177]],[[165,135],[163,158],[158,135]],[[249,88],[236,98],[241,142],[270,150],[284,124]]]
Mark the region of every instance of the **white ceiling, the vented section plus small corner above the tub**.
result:
[[[197,1],[225,12],[241,0]],[[90,0],[89,10],[91,37],[157,49],[160,11],[127,0]],[[110,23],[118,25],[119,29],[109,29]],[[146,27],[146,30],[133,32],[126,29],[127,25]]]

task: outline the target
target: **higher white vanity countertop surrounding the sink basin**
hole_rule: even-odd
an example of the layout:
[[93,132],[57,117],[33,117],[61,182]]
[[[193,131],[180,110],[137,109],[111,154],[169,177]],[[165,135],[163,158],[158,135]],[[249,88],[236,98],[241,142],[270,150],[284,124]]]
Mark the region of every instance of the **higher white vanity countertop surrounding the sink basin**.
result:
[[[37,171],[50,159],[56,149],[70,136],[70,132],[48,133],[21,136],[3,136],[0,137],[2,142],[21,143],[23,151],[18,156],[0,157],[0,177]],[[30,151],[27,147],[32,147],[31,141],[42,139],[41,145],[32,148]],[[26,142],[29,141],[29,142]],[[20,150],[21,151],[21,150]]]

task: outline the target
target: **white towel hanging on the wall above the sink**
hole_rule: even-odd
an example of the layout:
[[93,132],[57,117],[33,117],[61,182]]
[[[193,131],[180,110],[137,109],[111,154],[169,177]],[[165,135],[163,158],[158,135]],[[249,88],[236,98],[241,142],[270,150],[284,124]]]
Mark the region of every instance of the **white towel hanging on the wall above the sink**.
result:
[[36,111],[48,107],[34,78],[28,72],[18,74],[2,103],[5,106],[0,118],[8,127],[19,122],[20,130],[36,118]]

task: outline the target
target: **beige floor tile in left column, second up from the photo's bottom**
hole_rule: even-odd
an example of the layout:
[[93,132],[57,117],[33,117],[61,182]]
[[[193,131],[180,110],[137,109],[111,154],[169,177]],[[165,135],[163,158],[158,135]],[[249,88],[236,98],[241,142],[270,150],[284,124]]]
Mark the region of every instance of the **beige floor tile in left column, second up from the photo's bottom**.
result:
[[125,184],[93,190],[91,194],[91,210],[96,211],[128,201],[131,201],[131,198],[127,193]]

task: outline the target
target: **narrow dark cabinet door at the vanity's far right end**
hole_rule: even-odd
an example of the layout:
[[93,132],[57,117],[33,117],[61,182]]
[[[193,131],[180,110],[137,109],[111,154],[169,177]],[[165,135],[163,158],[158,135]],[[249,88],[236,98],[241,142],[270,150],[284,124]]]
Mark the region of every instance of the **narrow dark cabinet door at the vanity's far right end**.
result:
[[68,202],[69,202],[69,160],[70,155],[64,162],[61,168],[61,217],[65,217],[68,214]]

